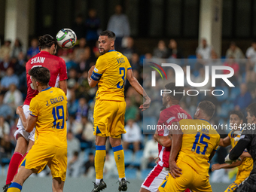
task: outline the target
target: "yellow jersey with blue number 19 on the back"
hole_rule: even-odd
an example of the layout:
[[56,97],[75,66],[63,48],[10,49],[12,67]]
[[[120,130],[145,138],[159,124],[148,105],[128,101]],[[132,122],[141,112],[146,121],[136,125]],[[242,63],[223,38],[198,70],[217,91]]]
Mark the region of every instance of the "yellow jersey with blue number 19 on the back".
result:
[[61,89],[48,87],[38,93],[30,102],[29,114],[38,118],[35,144],[67,147],[67,98]]

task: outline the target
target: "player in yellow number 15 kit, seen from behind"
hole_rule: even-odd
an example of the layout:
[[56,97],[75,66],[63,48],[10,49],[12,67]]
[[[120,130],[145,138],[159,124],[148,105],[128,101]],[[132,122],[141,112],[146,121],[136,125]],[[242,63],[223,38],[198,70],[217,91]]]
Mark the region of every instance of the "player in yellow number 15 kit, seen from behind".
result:
[[220,135],[209,123],[214,112],[215,105],[212,102],[200,102],[194,120],[180,120],[178,128],[171,130],[175,135],[172,135],[169,175],[158,192],[181,192],[187,188],[193,192],[212,192],[209,160],[220,142]]

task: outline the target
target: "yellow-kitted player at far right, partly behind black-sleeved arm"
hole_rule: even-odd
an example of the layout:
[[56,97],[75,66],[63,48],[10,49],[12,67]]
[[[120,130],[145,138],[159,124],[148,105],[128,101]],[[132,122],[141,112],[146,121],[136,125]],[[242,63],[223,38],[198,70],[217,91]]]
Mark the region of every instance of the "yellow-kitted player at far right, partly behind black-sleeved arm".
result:
[[[230,144],[232,148],[236,146],[242,133],[242,119],[243,119],[243,114],[241,111],[230,112],[230,126],[232,127],[233,130],[230,131],[230,133],[228,133],[228,136],[226,138],[221,139],[220,146],[227,147]],[[245,180],[245,178],[248,178],[253,168],[253,160],[250,156],[251,155],[248,154],[247,151],[245,151],[242,154],[242,157],[240,157],[241,160],[233,162],[231,165],[227,163],[212,165],[212,171],[215,171],[218,169],[230,169],[236,166],[238,167],[236,180],[233,181],[233,183],[227,187],[225,192],[236,190],[236,187],[238,187],[239,184],[241,184],[242,181]]]

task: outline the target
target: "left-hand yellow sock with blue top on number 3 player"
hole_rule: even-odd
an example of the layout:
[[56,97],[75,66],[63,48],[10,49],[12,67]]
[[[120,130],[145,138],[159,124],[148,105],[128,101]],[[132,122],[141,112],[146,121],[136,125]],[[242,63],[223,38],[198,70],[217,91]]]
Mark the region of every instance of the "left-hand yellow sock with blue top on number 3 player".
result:
[[105,163],[105,145],[96,145],[96,153],[94,158],[94,166],[96,172],[96,179],[103,178],[103,168]]

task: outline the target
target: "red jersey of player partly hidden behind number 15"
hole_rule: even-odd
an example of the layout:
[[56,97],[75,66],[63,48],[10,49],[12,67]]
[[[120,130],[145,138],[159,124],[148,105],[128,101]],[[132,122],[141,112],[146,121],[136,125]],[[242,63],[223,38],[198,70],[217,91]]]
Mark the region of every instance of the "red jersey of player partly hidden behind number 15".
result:
[[[160,112],[160,117],[157,125],[160,125],[162,127],[163,125],[165,125],[167,129],[157,130],[158,135],[168,136],[169,135],[168,126],[169,127],[172,126],[173,122],[178,122],[181,119],[192,119],[192,117],[190,116],[190,114],[187,113],[187,111],[181,108],[180,105],[172,105],[169,108],[164,109],[162,112]],[[158,164],[160,166],[169,168],[170,151],[171,151],[171,148],[166,148],[158,144],[158,157],[159,157]]]

